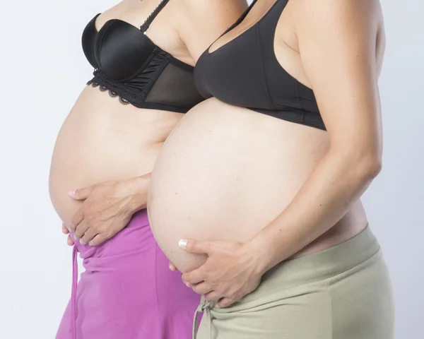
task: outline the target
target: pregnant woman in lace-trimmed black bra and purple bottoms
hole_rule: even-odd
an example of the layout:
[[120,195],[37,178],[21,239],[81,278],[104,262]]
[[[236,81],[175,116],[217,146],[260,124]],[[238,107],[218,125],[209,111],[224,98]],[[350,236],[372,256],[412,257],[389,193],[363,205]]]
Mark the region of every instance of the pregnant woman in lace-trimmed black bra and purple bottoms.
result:
[[[203,100],[194,62],[245,6],[126,0],[84,30],[94,78],[61,128],[49,183],[76,242],[72,297],[57,339],[191,336],[200,297],[168,269],[148,225],[146,191],[168,134]],[[77,249],[86,268],[78,286]]]

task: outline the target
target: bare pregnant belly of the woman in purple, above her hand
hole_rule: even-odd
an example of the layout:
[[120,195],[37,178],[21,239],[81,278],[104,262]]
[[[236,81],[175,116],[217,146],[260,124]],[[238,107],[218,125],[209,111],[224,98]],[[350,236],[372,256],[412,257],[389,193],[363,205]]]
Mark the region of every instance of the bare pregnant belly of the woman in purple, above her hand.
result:
[[68,191],[151,172],[182,115],[122,105],[98,88],[85,88],[61,127],[52,156],[49,190],[61,220],[68,222],[79,206]]

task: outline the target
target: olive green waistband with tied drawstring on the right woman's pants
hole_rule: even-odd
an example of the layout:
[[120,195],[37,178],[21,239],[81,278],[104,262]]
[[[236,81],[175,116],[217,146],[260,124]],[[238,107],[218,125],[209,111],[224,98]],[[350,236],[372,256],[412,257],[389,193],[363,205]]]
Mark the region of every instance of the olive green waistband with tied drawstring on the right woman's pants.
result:
[[[243,297],[235,305],[240,306],[255,299],[273,295],[293,287],[315,283],[339,275],[367,261],[379,251],[379,243],[369,226],[346,242],[342,242],[316,254],[302,256],[279,263],[264,274],[254,292]],[[197,317],[204,312],[204,321],[212,331],[211,309],[214,302],[203,297],[194,315],[193,339],[196,339]],[[220,309],[225,311],[225,309]]]

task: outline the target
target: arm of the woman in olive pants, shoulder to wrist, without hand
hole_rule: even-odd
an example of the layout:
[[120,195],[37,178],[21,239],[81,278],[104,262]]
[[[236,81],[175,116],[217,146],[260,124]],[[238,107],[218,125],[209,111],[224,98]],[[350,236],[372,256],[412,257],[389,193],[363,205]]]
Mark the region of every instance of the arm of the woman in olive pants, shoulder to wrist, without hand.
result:
[[380,171],[375,1],[303,0],[295,18],[302,65],[330,148],[283,213],[247,246],[266,271],[345,215]]

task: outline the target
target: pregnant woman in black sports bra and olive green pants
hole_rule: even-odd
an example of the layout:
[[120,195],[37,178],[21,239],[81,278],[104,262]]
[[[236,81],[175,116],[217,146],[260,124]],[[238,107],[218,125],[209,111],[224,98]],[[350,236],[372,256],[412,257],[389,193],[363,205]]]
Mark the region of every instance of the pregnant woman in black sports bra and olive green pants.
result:
[[378,0],[255,0],[204,52],[148,210],[198,338],[393,338],[360,196],[380,171]]

